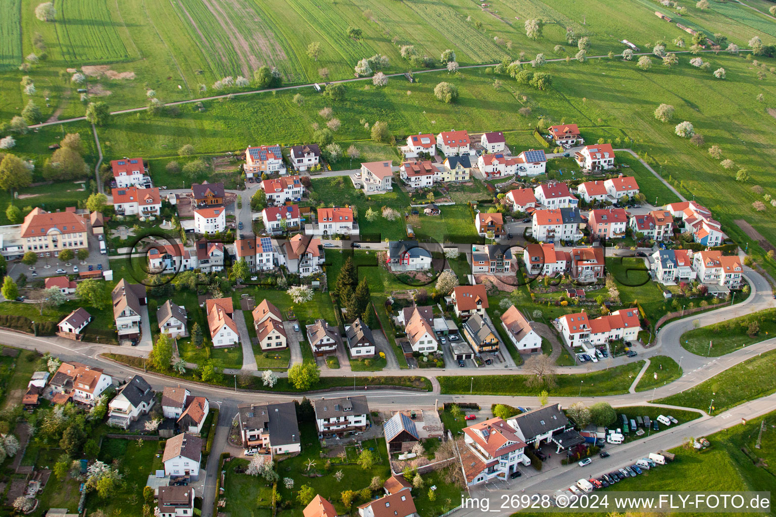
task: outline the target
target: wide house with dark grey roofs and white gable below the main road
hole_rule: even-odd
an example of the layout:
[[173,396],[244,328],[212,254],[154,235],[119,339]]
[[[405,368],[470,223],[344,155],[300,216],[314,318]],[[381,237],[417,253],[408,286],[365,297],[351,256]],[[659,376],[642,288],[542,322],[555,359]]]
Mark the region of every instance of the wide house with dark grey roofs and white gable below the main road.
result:
[[293,402],[251,404],[237,407],[243,446],[272,454],[302,450],[296,407]]

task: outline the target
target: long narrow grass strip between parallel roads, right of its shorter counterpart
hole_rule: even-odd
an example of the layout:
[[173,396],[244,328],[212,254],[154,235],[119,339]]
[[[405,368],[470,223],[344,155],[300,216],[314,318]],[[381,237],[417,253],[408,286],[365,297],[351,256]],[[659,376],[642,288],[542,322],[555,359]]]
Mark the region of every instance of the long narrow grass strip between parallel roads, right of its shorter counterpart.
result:
[[[633,379],[644,366],[644,361],[623,364],[609,370],[587,374],[556,375],[556,387],[546,385],[528,387],[528,375],[477,375],[474,377],[473,394],[476,395],[538,395],[546,389],[550,395],[571,397],[577,395],[602,396],[627,393]],[[469,394],[470,377],[437,377],[442,393]]]

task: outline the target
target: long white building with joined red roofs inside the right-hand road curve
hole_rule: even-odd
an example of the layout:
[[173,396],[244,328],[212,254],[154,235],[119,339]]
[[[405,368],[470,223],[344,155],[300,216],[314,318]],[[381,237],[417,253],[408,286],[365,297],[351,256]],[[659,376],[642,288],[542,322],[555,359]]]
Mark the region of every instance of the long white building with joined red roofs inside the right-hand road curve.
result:
[[560,333],[570,346],[603,345],[615,339],[635,341],[641,330],[636,308],[622,308],[596,319],[577,312],[561,316],[559,322]]

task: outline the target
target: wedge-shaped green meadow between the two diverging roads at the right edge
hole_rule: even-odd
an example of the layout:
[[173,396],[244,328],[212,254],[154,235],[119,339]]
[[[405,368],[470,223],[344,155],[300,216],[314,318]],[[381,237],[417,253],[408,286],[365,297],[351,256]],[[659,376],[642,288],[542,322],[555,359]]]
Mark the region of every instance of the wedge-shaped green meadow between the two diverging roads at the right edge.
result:
[[698,408],[706,412],[711,405],[709,414],[718,415],[743,402],[771,395],[776,391],[774,357],[776,350],[760,353],[757,357],[736,364],[701,384],[655,402]]

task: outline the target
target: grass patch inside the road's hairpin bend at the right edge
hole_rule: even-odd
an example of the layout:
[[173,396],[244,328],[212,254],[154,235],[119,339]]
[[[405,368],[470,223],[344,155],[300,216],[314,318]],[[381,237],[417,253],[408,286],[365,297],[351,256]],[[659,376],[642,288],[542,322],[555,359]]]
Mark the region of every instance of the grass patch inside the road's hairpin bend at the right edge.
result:
[[[750,335],[755,324],[757,333]],[[776,308],[689,330],[681,335],[681,346],[699,356],[719,357],[771,337],[776,337]]]

